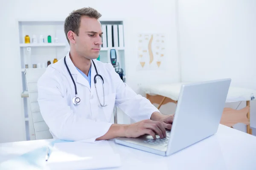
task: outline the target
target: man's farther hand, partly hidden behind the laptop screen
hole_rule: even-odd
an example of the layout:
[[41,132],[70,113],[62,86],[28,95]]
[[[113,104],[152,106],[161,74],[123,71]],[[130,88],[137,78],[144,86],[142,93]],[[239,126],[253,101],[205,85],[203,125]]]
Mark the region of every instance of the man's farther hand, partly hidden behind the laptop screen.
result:
[[154,112],[151,115],[151,120],[160,122],[164,128],[171,130],[172,122],[174,119],[174,114],[172,115],[163,115],[159,112]]

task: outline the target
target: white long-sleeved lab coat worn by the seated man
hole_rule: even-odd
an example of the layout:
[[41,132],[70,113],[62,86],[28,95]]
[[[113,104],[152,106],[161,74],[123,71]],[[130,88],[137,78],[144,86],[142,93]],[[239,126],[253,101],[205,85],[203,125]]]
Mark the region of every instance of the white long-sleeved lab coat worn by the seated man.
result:
[[[77,71],[70,59],[66,57],[67,65],[76,82],[77,93],[81,99],[80,105],[72,102],[75,87],[64,64],[64,58],[47,67],[46,72],[38,80],[38,104],[44,121],[54,138],[71,141],[94,141],[109,130],[113,108],[122,109],[131,119],[138,122],[150,119],[151,114],[158,111],[148,99],[137,95],[127,84],[122,82],[113,66],[96,59],[97,71],[102,75],[105,86],[106,107],[99,106],[94,76],[91,65],[91,87],[89,82]],[[97,79],[97,91],[103,103],[102,82]]]

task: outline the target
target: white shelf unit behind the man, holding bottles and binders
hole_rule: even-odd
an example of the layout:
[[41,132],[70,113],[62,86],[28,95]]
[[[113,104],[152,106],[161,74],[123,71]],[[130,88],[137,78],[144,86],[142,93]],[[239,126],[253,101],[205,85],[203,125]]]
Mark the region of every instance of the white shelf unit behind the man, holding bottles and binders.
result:
[[[123,24],[122,20],[101,20],[100,22],[102,25]],[[29,105],[29,94],[24,74],[25,65],[28,65],[28,68],[33,68],[33,64],[47,67],[48,60],[52,63],[53,59],[60,60],[67,54],[69,44],[64,34],[64,20],[18,20],[17,24],[19,29],[20,74],[22,77],[22,90],[20,92],[23,106],[22,114],[24,115],[26,125],[26,140],[34,140],[35,134]],[[31,43],[25,43],[26,35],[29,35]],[[36,35],[38,43],[32,42],[33,35]],[[40,35],[44,36],[44,43],[39,43]],[[52,43],[47,42],[48,35],[51,35]],[[54,41],[55,37],[58,38],[58,42]],[[120,68],[123,69],[125,74],[125,47],[102,47],[99,53],[100,61],[110,62],[109,49],[116,49],[118,55],[117,62],[119,62]]]

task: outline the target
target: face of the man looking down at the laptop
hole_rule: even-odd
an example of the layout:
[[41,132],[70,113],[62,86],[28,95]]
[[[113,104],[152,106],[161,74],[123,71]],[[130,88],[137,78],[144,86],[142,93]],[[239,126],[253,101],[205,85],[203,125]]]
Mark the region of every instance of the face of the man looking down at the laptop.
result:
[[90,17],[81,17],[79,36],[75,35],[77,53],[87,59],[99,57],[102,45],[102,28],[99,20]]

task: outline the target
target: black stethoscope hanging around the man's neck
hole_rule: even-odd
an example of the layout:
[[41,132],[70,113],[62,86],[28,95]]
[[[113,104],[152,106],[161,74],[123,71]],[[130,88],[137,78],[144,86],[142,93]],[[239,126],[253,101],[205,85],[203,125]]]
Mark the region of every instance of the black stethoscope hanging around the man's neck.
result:
[[[92,60],[92,62],[93,62],[93,60]],[[73,83],[74,83],[74,86],[75,86],[75,93],[76,93],[76,96],[72,99],[73,104],[74,104],[74,105],[79,105],[80,102],[81,102],[81,99],[77,96],[76,83],[75,83],[75,81],[74,81],[74,79],[73,79],[72,74],[70,73],[70,70],[69,70],[68,66],[67,66],[67,63],[66,63],[66,56],[64,57],[64,63],[65,63],[65,65],[66,65],[67,71],[68,71],[68,73],[70,74],[70,77],[71,77],[71,79],[72,79],[72,81],[73,81]],[[105,106],[107,106],[107,105],[105,104],[104,79],[103,79],[103,77],[102,77],[100,74],[98,74],[98,71],[97,71],[97,68],[96,68],[94,62],[93,62],[93,65],[94,65],[94,68],[95,68],[95,71],[96,71],[96,75],[94,76],[94,85],[95,85],[95,89],[96,89],[96,94],[97,94],[98,100],[99,100],[99,95],[98,95],[98,91],[97,91],[97,88],[96,88],[97,78],[100,78],[101,81],[102,81],[102,88],[103,88],[103,105],[101,104],[100,100],[99,100],[99,105],[102,106],[102,107],[105,107]]]

